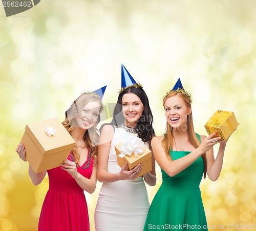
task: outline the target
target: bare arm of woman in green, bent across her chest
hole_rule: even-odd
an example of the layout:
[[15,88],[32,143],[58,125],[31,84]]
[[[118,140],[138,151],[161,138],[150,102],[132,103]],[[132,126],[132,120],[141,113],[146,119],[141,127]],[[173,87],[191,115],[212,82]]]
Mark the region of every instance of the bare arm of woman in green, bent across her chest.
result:
[[212,133],[204,139],[204,141],[197,149],[190,152],[188,155],[176,160],[171,160],[166,156],[166,153],[164,152],[163,146],[161,144],[163,137],[156,136],[152,139],[152,148],[155,153],[156,161],[160,168],[169,176],[175,176],[189,165],[194,163],[194,161],[198,159],[203,153],[207,152],[214,145],[220,143],[220,137],[212,138],[214,135],[215,133]]

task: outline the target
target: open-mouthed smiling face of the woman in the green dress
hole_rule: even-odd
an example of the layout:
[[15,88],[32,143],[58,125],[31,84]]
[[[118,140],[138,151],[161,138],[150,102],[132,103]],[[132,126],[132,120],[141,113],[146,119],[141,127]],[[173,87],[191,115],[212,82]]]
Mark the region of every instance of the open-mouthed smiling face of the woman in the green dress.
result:
[[187,129],[187,116],[191,113],[185,101],[179,96],[172,96],[164,103],[165,117],[167,123],[174,129]]

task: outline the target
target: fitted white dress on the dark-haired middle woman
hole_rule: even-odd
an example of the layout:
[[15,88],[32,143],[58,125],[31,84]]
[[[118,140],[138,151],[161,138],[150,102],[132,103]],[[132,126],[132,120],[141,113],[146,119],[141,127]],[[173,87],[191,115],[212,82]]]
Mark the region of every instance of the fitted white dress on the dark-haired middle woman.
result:
[[[111,143],[108,172],[119,173],[115,145],[127,136],[135,135],[124,128],[116,128]],[[148,145],[147,143],[145,143]],[[150,204],[143,177],[135,180],[119,180],[103,183],[95,209],[96,231],[143,230]]]

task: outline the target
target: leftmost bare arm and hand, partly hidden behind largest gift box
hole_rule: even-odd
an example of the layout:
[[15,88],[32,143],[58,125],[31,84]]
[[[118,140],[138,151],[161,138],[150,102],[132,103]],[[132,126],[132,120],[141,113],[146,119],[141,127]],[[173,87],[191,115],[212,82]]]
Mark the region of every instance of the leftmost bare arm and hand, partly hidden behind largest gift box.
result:
[[[16,148],[16,152],[18,153],[20,159],[22,159],[23,161],[27,161],[26,150],[23,144],[18,145],[18,147]],[[41,183],[42,180],[45,178],[45,176],[46,176],[46,171],[35,173],[34,170],[31,168],[31,166],[29,166],[29,177],[35,186]]]

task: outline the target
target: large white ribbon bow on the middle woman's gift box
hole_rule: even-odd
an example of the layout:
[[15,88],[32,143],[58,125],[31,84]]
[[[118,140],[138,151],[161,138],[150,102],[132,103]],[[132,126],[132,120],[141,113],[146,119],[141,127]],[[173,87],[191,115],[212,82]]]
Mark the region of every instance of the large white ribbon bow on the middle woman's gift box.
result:
[[137,157],[144,152],[144,149],[145,145],[141,138],[130,135],[122,141],[122,145],[120,147],[121,153],[118,156],[122,158],[125,155],[131,156],[132,153],[134,153]]

